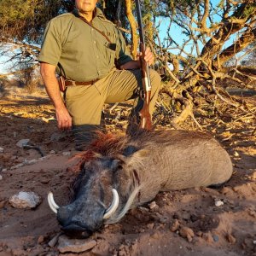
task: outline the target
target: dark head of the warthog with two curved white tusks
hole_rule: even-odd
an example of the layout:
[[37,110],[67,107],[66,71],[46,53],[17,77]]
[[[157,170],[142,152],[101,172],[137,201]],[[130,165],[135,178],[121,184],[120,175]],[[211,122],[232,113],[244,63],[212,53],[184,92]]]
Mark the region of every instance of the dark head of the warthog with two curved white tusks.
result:
[[[94,154],[90,160],[83,161],[73,185],[73,202],[67,206],[59,207],[49,192],[49,207],[57,214],[61,229],[68,236],[88,237],[102,224],[119,221],[129,210],[138,184],[132,182],[131,175],[128,177],[127,168],[124,171],[124,160],[125,156],[117,159]],[[131,193],[126,193],[127,190]],[[124,193],[129,198],[124,198]]]

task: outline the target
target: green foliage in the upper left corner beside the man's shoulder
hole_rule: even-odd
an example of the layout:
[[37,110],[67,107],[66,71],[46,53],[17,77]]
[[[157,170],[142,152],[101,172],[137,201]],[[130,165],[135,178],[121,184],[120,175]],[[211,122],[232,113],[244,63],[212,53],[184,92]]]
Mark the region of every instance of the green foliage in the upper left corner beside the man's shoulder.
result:
[[0,0],[1,41],[40,43],[46,23],[72,3],[72,0]]

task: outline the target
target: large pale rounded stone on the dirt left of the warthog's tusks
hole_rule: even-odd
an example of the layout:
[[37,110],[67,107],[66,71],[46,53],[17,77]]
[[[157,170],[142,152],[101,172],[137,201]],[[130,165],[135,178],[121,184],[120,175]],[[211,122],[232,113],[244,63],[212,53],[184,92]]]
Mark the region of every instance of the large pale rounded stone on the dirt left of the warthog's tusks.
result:
[[9,198],[9,203],[12,207],[19,209],[35,208],[40,202],[40,197],[34,192],[20,191],[19,194],[13,195]]

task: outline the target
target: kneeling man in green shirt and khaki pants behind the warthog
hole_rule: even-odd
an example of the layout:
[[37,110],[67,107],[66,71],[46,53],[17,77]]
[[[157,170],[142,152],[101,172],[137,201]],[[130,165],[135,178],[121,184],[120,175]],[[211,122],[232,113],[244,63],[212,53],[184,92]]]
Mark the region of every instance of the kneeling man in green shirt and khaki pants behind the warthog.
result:
[[[142,88],[140,61],[133,61],[125,40],[112,22],[96,8],[97,0],[75,0],[73,13],[59,15],[49,21],[44,32],[39,61],[41,75],[55,106],[58,127],[73,127],[78,149],[84,149],[99,128],[103,104],[137,98]],[[83,19],[81,19],[81,17]],[[119,69],[115,67],[115,60]],[[154,55],[146,49],[144,60],[153,64]],[[62,100],[55,71],[67,79]],[[160,88],[160,76],[150,71],[153,113]],[[133,113],[143,107],[137,100]]]

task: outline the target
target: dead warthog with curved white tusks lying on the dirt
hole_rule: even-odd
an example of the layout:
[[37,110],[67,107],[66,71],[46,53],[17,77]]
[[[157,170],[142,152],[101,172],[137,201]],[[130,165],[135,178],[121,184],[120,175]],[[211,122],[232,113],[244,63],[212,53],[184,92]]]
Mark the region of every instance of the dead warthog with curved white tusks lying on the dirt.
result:
[[218,185],[232,174],[224,148],[200,132],[154,131],[102,142],[84,152],[71,204],[58,207],[49,193],[49,207],[67,234],[90,236],[160,191]]

